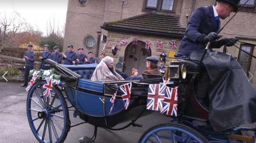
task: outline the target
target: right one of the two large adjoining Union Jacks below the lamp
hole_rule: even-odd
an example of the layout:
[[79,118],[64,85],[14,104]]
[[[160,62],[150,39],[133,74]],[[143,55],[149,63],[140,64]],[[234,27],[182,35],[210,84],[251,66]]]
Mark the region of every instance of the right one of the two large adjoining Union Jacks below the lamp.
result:
[[178,93],[177,88],[166,87],[163,109],[161,113],[177,116]]

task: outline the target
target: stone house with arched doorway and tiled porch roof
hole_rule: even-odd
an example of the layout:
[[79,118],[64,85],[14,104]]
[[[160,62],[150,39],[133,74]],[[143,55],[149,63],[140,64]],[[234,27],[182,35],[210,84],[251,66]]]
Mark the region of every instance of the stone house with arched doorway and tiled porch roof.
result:
[[[241,0],[240,4],[245,1]],[[106,44],[103,51],[106,56],[114,58],[118,69],[131,74],[131,69],[135,67],[141,73],[145,70],[145,57],[159,57],[162,52],[172,56],[176,52],[178,48],[172,49],[170,41],[176,40],[178,47],[187,21],[195,8],[215,4],[215,0],[69,0],[63,50],[67,49],[67,45],[73,44],[75,52],[78,47],[85,47],[86,54],[92,50],[93,55],[98,57]],[[238,38],[240,42],[236,46],[254,56],[255,5],[256,0],[249,0],[249,4],[220,32],[221,38]],[[221,20],[221,27],[230,17]],[[103,43],[105,36],[106,43]],[[137,46],[132,46],[134,38],[138,40]],[[119,44],[121,39],[127,40],[125,45]],[[145,49],[147,41],[151,43],[149,49]],[[157,49],[158,41],[163,42],[161,49]],[[112,54],[114,44],[117,48],[115,55]],[[251,83],[256,87],[256,59],[237,47],[228,47],[228,53],[238,58]],[[168,62],[167,60],[166,65]]]

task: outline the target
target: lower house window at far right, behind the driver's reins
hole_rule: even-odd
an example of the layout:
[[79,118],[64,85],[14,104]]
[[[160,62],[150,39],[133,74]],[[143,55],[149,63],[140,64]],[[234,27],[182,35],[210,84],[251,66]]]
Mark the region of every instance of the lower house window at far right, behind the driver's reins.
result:
[[[240,49],[242,49],[250,54],[253,54],[253,46],[252,45],[241,45]],[[242,50],[239,50],[239,55],[238,55],[237,61],[242,66],[242,68],[244,69],[244,72],[248,76],[252,57],[249,56],[248,54],[246,54],[245,52],[243,52]]]

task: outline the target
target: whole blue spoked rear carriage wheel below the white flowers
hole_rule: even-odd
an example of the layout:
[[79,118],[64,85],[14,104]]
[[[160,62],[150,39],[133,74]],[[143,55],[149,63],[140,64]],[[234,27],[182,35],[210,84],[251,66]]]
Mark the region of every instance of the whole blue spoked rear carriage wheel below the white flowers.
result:
[[56,86],[51,98],[43,96],[44,80],[36,82],[28,93],[29,126],[40,143],[62,143],[70,129],[66,100]]

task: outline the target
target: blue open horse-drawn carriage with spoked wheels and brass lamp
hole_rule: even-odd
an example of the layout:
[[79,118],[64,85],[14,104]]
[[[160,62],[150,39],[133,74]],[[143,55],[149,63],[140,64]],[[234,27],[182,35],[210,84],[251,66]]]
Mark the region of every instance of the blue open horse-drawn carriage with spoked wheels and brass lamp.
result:
[[[69,120],[70,108],[75,109],[74,116],[78,115],[85,123],[95,126],[93,138],[96,138],[97,127],[118,130],[112,127],[124,121],[122,117],[129,111],[133,112],[135,116],[131,116],[131,123],[123,128],[130,125],[140,126],[135,121],[142,116],[146,109],[149,84],[163,82],[162,76],[148,76],[142,80],[131,81],[91,81],[90,75],[95,69],[95,65],[64,67],[49,59],[45,62],[55,68],[55,73],[61,75],[64,91],[61,91],[58,86],[53,86],[51,97],[43,96],[45,80],[35,82],[29,90],[28,121],[36,139],[42,143],[60,143],[65,140],[72,127]],[[190,59],[176,59],[171,62],[164,75],[165,79],[169,75],[173,80],[173,84],[167,84],[167,86],[178,86],[178,116],[170,117],[170,123],[150,128],[138,142],[255,143],[255,128],[234,127],[224,131],[215,131],[212,128],[208,109],[199,104],[194,92],[195,82],[198,81],[200,73],[196,70],[193,71],[193,68],[186,71],[184,63],[189,63],[195,69],[197,67],[197,63]],[[125,76],[125,74],[122,75]],[[130,82],[132,83],[131,98],[128,108],[125,109],[118,86]],[[116,101],[112,107],[110,99],[116,92]],[[67,101],[69,102],[67,103]],[[133,110],[138,106],[141,110]],[[247,133],[248,131],[249,133]]]

